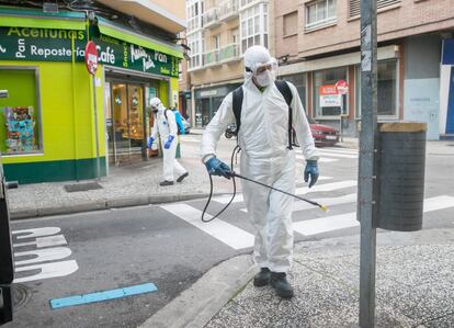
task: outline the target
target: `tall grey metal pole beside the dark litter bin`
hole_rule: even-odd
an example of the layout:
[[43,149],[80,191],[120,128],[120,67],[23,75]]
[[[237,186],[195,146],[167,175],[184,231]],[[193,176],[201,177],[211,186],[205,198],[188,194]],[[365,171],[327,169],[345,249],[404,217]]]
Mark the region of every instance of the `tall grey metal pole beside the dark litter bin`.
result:
[[357,218],[361,223],[360,327],[375,325],[377,0],[361,0],[361,136]]

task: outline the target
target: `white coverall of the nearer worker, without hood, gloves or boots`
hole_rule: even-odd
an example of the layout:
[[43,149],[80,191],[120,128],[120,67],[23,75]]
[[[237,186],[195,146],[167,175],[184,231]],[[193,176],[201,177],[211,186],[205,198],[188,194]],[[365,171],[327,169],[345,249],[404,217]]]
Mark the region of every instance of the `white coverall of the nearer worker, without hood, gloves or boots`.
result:
[[[263,61],[266,60],[265,58]],[[316,160],[318,151],[298,92],[292,83],[288,86],[293,94],[293,127],[298,143],[305,158]],[[273,81],[261,92],[250,75],[247,76],[242,90],[241,126],[238,136],[241,147],[241,174],[295,193],[295,151],[287,148],[288,106],[284,97]],[[235,122],[230,92],[205,128],[202,139],[204,161],[215,156],[220,135],[228,124]],[[303,176],[303,171],[300,174]],[[256,228],[254,261],[260,268],[286,273],[293,255],[293,197],[249,181],[241,180],[241,183],[248,214]]]

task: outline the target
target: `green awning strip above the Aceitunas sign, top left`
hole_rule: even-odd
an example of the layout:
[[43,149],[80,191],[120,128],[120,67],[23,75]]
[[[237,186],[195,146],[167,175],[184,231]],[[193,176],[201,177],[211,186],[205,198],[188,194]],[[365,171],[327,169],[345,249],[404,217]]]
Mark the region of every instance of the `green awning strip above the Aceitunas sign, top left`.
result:
[[37,10],[23,10],[0,7],[0,26],[86,30],[86,14],[80,12],[45,13]]

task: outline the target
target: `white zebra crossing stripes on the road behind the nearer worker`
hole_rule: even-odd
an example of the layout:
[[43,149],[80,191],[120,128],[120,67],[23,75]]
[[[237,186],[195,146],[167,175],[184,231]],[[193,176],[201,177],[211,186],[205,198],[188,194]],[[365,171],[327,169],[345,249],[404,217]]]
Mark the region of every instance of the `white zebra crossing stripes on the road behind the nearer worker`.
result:
[[[342,148],[324,148],[320,150],[321,158],[327,162],[337,160],[357,159],[357,149],[342,149]],[[303,158],[300,149],[297,150],[297,157]],[[258,186],[260,188],[260,186]],[[314,212],[317,207],[303,201],[295,200],[293,204],[293,229],[296,236],[317,236],[338,230],[352,229],[360,226],[356,220],[356,180],[336,181],[332,177],[320,177],[319,182],[313,186],[299,185],[296,188],[296,194],[306,196],[317,203],[327,205],[332,212],[322,213]],[[213,202],[218,204],[218,210],[226,205],[231,200],[230,194],[213,197]],[[202,223],[202,211],[195,208],[191,202],[180,204],[162,205],[161,208],[171,213],[172,215],[190,223],[192,226],[222,241],[235,250],[241,250],[253,246],[253,228],[249,225],[249,220],[239,219],[232,212],[238,211],[241,215],[247,215],[247,208],[243,204],[243,195],[237,194],[232,201],[231,206],[226,211],[230,212],[229,218],[226,222],[226,215],[222,218],[216,218],[206,224]],[[198,204],[200,206],[200,204]],[[424,200],[424,213],[435,211],[443,211],[454,208],[454,196],[439,195],[427,197]],[[218,211],[217,210],[217,211]],[[217,213],[213,210],[212,214]],[[309,213],[309,211],[311,211]],[[237,213],[238,213],[237,212]],[[318,216],[318,217],[315,217]],[[206,215],[207,218],[213,216]],[[224,218],[223,218],[224,217]],[[235,224],[234,224],[235,223]],[[350,231],[351,233],[351,231]]]

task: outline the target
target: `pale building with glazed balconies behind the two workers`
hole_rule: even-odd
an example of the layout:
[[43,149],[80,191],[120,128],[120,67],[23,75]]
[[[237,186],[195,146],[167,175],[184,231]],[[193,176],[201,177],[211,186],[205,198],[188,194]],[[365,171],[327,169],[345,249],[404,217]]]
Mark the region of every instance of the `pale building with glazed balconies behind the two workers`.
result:
[[[186,0],[191,124],[202,127],[243,81],[241,54],[268,46],[268,0]],[[186,90],[188,94],[188,90]]]

